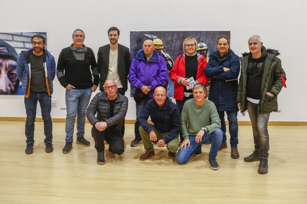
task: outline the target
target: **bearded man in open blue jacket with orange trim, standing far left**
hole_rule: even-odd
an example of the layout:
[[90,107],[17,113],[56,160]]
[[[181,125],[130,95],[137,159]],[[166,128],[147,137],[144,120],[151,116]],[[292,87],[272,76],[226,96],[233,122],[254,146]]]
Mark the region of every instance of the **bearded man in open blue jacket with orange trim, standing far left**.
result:
[[17,78],[22,83],[22,93],[25,96],[25,136],[27,137],[25,154],[33,153],[34,122],[36,118],[37,101],[41,106],[41,115],[44,120],[45,151],[52,152],[52,121],[51,95],[52,81],[56,75],[54,57],[45,50],[46,39],[37,34],[31,38],[33,48],[22,51],[17,59]]

